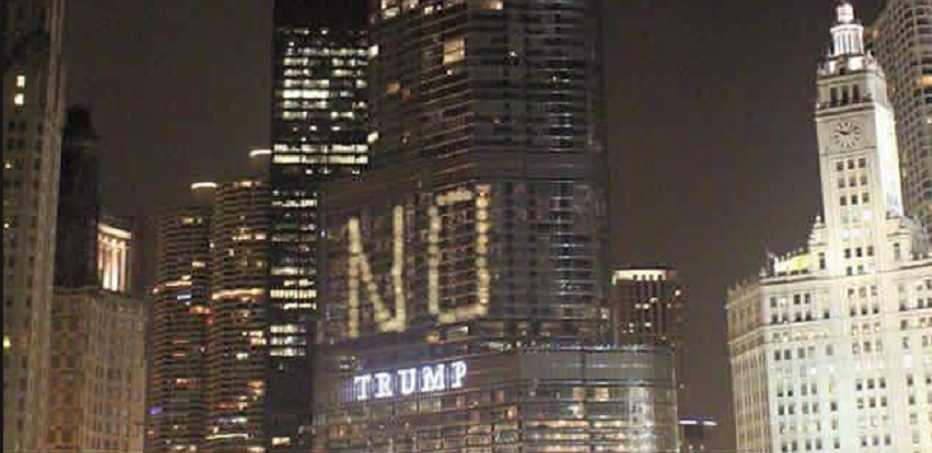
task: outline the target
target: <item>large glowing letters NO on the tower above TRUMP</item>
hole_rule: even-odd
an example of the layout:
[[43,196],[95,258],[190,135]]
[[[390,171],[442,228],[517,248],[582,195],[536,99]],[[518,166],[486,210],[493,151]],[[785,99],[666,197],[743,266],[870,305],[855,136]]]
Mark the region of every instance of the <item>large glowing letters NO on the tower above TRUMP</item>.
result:
[[[428,310],[441,323],[462,322],[484,316],[489,311],[489,186],[478,186],[475,192],[468,189],[450,191],[437,196],[428,209],[430,231],[428,236]],[[462,203],[475,206],[475,276],[477,297],[473,303],[444,310],[440,306],[440,235],[443,220],[440,208]],[[389,310],[381,297],[372,276],[369,257],[362,249],[362,234],[359,218],[349,220],[349,337],[358,338],[360,328],[360,290],[365,289],[375,309],[375,321],[379,332],[402,332],[408,327],[407,299],[404,295],[404,207],[396,206],[392,213],[392,261],[391,282],[395,296],[395,309]]]

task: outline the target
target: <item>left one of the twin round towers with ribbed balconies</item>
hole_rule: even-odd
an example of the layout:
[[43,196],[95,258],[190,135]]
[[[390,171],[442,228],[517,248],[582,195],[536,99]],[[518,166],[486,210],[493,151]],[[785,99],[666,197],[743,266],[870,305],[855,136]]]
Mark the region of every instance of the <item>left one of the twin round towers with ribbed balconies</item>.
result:
[[204,450],[215,189],[214,183],[192,185],[195,203],[158,219],[146,452]]

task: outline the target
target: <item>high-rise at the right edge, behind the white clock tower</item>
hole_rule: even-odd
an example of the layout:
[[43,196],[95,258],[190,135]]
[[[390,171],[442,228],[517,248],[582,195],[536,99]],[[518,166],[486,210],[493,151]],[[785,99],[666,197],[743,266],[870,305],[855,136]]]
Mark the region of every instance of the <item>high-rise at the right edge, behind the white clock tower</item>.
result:
[[889,0],[870,33],[897,117],[907,214],[932,233],[932,2]]

